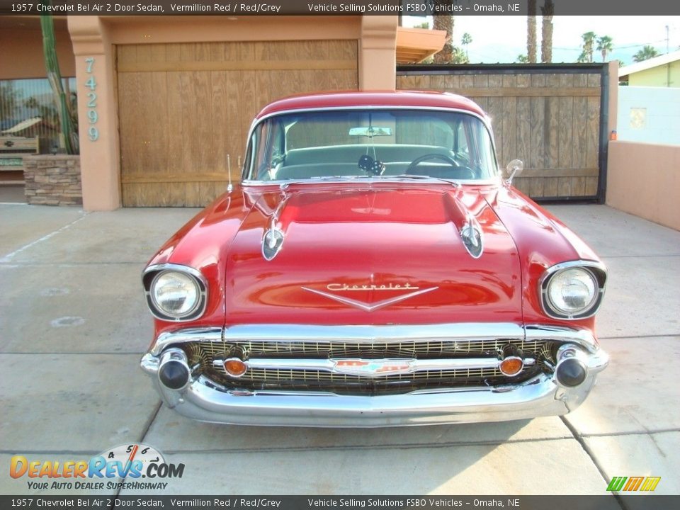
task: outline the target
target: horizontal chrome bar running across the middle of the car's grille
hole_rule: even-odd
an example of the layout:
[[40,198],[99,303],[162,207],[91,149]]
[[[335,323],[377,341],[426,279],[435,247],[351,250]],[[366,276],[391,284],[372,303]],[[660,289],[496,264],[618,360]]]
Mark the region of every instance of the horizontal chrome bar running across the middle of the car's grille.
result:
[[[534,365],[536,360],[533,358],[519,358],[523,361],[525,366]],[[385,370],[382,372],[367,372],[360,369],[351,370],[351,367],[339,368],[338,363],[356,361],[358,363],[376,363],[389,368],[390,365],[404,365],[401,370]],[[319,370],[322,372],[344,373],[352,375],[365,375],[366,377],[381,377],[383,375],[392,375],[397,373],[415,373],[424,370],[459,370],[475,368],[499,368],[502,358],[438,358],[438,359],[400,359],[400,358],[384,358],[384,359],[313,359],[313,358],[250,358],[245,361],[246,366],[252,369],[271,369],[271,370]],[[215,368],[222,368],[225,360],[215,359],[212,365]]]

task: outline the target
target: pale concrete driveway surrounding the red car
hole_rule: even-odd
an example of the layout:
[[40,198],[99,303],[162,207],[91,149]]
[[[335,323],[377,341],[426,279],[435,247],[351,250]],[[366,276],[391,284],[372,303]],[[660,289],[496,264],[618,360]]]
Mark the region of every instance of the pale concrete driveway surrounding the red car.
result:
[[197,210],[0,205],[0,494],[58,492],[8,476],[12,455],[86,460],[134,442],[186,465],[166,494],[606,494],[616,476],[679,494],[680,232],[603,205],[550,210],[610,271],[611,365],[587,402],[563,418],[363,430],[217,426],[161,407],[139,368],[152,338],[140,271]]

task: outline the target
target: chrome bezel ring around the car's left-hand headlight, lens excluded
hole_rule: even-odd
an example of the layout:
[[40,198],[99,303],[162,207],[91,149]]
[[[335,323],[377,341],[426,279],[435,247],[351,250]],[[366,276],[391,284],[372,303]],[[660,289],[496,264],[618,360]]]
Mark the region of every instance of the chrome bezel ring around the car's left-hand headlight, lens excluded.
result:
[[[170,314],[167,310],[163,310],[154,297],[154,285],[156,285],[161,276],[167,273],[181,273],[181,275],[190,278],[198,290],[196,303],[193,304],[190,310],[182,314]],[[142,274],[142,283],[144,284],[149,310],[157,319],[171,322],[185,322],[198,319],[198,317],[203,315],[205,307],[208,305],[208,283],[203,274],[192,267],[172,263],[149,266]]]

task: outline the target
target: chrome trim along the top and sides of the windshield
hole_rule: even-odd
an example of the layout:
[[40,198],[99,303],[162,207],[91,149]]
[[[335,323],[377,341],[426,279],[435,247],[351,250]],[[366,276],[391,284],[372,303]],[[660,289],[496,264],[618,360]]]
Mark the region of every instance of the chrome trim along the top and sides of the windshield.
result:
[[[479,105],[477,105],[479,106]],[[309,112],[319,112],[319,111],[374,111],[374,110],[402,110],[402,111],[443,111],[443,112],[450,112],[450,113],[463,113],[465,115],[472,115],[472,117],[475,117],[479,120],[482,121],[482,124],[484,127],[487,129],[487,134],[489,135],[489,140],[491,141],[491,147],[493,151],[493,157],[494,157],[494,163],[496,164],[496,168],[492,169],[494,170],[495,176],[492,177],[492,179],[485,179],[485,181],[497,181],[502,179],[501,176],[501,171],[499,169],[498,165],[498,156],[497,156],[497,151],[496,151],[496,140],[494,140],[494,130],[491,127],[491,123],[489,123],[489,118],[485,115],[480,115],[479,113],[470,111],[470,110],[464,110],[463,108],[446,108],[443,106],[390,106],[390,105],[371,105],[371,106],[319,106],[317,108],[294,108],[292,110],[280,110],[272,113],[268,113],[267,115],[263,115],[260,118],[256,118],[253,120],[253,122],[250,125],[250,129],[248,130],[248,137],[246,139],[246,142],[248,145],[251,145],[251,138],[253,135],[253,132],[257,128],[258,125],[263,123],[265,120],[268,120],[273,117],[278,117],[280,115],[290,115],[290,114],[295,114],[295,113],[309,113]],[[254,151],[254,147],[253,147]],[[254,160],[251,160],[251,166],[253,164]],[[286,181],[260,181],[257,179],[246,179],[246,172],[249,174],[250,169],[246,169],[245,166],[242,169],[242,174],[241,174],[241,182],[242,183],[247,183],[248,186],[256,186],[256,183],[285,183]],[[290,181],[288,181],[290,182]],[[325,181],[329,182],[329,181]],[[332,182],[332,181],[330,181]],[[401,181],[403,182],[403,181]],[[422,182],[422,180],[420,180]],[[441,182],[441,180],[440,180]],[[451,181],[454,182],[454,181]],[[460,182],[460,183],[475,183],[475,184],[482,184],[484,183],[482,179],[480,180],[471,180],[471,179],[465,179],[465,180],[460,180],[460,181],[455,181],[455,182]]]

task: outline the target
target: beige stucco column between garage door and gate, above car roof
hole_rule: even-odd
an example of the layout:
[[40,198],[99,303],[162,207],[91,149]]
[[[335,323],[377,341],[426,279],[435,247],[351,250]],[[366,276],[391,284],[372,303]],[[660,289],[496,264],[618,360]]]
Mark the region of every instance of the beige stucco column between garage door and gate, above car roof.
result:
[[359,40],[359,89],[397,86],[398,16],[362,16]]

